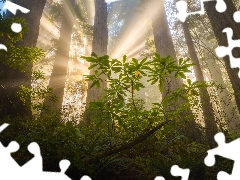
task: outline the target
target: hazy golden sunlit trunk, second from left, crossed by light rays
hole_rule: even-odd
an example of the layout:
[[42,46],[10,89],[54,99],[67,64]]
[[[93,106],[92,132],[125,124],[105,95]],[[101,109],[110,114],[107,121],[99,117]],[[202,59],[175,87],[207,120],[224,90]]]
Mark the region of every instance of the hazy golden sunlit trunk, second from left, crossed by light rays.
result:
[[71,9],[74,3],[74,0],[63,1],[63,16],[60,29],[60,37],[58,40],[55,62],[49,81],[49,87],[53,89],[53,95],[58,97],[58,101],[51,102],[48,98],[45,100],[45,105],[50,106],[53,109],[61,109],[63,103],[71,35],[74,24],[74,19],[72,19],[69,15],[68,9]]

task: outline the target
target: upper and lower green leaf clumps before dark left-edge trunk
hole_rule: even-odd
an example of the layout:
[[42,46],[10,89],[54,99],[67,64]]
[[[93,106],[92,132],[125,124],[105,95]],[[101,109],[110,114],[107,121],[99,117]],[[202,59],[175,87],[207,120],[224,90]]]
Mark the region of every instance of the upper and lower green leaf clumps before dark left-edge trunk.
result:
[[[13,22],[22,25],[22,31],[15,33],[11,30]],[[33,63],[38,62],[45,56],[45,51],[37,47],[24,47],[18,45],[28,29],[26,28],[26,22],[23,18],[5,18],[0,15],[0,39],[3,44],[7,46],[7,52],[0,51],[1,63],[9,66],[12,69],[16,69],[21,73],[29,74],[33,84],[37,84],[39,80],[45,79],[44,74],[39,70],[32,70]],[[27,78],[26,77],[26,78]],[[9,79],[10,80],[10,79]],[[27,81],[28,79],[26,79]],[[44,99],[46,96],[51,96],[52,101],[56,101],[56,97],[51,94],[49,88],[29,88],[24,85],[19,87],[17,97],[23,102],[25,106],[31,108],[33,112],[46,109],[39,99]]]

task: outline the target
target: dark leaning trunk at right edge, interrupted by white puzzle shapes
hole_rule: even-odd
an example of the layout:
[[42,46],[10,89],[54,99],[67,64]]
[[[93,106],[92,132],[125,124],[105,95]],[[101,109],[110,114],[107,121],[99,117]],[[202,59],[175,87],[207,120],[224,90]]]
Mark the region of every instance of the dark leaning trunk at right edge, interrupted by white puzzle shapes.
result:
[[[219,13],[215,9],[216,1],[204,2],[204,7],[206,9],[208,18],[213,27],[214,34],[217,38],[219,46],[228,46],[227,36],[222,30],[226,27],[233,29],[233,39],[240,39],[240,24],[233,20],[233,13],[237,11],[232,1],[225,1],[227,4],[227,10],[224,13]],[[240,57],[240,51],[233,51],[235,57]],[[238,110],[240,112],[240,79],[238,77],[238,68],[232,69],[230,67],[229,57],[225,56],[223,58],[226,66],[226,71],[228,73],[232,88],[234,91],[234,97]]]

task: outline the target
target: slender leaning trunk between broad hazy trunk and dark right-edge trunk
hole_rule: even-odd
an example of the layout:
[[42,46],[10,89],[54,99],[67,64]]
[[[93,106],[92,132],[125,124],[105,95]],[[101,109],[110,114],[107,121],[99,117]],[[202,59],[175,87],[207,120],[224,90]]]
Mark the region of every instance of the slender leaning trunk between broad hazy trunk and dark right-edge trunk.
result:
[[[187,22],[183,23],[182,27],[183,27],[183,32],[185,35],[186,43],[188,46],[188,54],[191,58],[192,63],[195,64],[195,66],[193,66],[193,68],[194,68],[196,80],[204,81],[204,76],[203,76],[203,73],[201,70],[201,66],[199,64],[197,53],[194,49],[194,45],[193,45],[192,37],[191,37],[190,31],[189,31],[188,23]],[[204,122],[205,122],[205,127],[206,127],[206,137],[207,137],[210,147],[214,147],[216,145],[215,140],[214,140],[214,135],[218,132],[218,128],[217,128],[217,124],[215,122],[213,106],[211,104],[210,96],[209,96],[206,88],[201,88],[199,93],[200,93],[200,100],[201,100],[201,104],[202,104]]]

